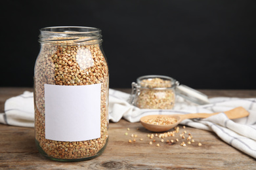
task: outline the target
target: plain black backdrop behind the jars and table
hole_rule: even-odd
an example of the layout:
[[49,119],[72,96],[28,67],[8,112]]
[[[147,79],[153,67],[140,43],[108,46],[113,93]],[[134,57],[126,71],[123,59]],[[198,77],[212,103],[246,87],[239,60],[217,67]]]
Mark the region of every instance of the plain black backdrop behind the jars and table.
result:
[[[4,2],[4,3],[3,3]],[[41,27],[102,29],[110,88],[167,75],[201,89],[256,89],[256,1],[3,1],[0,86],[33,86]]]

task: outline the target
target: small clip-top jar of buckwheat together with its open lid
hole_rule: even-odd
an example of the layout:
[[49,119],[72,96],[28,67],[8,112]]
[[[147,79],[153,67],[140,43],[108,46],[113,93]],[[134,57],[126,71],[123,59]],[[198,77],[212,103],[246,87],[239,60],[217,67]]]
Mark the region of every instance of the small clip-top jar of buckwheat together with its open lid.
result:
[[207,95],[198,92],[169,76],[147,75],[132,83],[130,103],[140,109],[173,109],[176,95],[198,105],[208,104]]

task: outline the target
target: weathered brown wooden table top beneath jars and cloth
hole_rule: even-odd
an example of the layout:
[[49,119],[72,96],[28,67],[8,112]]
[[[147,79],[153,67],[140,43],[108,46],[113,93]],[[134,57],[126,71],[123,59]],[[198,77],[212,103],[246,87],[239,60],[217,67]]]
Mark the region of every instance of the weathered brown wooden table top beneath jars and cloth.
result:
[[[0,112],[4,110],[6,99],[24,90],[32,92],[32,88],[0,88]],[[120,90],[130,92],[129,89]],[[256,97],[256,90],[200,91],[209,97]],[[160,138],[154,137],[156,143],[149,144],[153,139],[147,135],[151,133],[139,123],[125,120],[110,123],[109,143],[101,156],[89,161],[64,163],[39,154],[33,128],[0,124],[0,169],[256,169],[254,158],[224,143],[215,133],[180,126],[180,132],[184,130],[192,134],[194,143],[181,146],[181,141],[186,140],[176,135],[165,138],[165,141],[178,138],[178,143],[161,143]],[[131,137],[131,134],[138,137]],[[136,142],[129,143],[129,139],[136,139]],[[202,146],[198,146],[199,142]],[[157,143],[160,146],[156,146]]]

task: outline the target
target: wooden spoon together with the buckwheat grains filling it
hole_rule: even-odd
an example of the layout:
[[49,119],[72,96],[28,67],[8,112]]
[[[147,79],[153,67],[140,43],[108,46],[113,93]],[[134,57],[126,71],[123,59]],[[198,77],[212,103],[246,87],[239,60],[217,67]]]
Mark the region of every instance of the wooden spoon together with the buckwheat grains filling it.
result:
[[[149,115],[140,118],[140,123],[150,131],[160,132],[167,131],[177,126],[182,120],[187,118],[208,118],[220,112],[214,113],[191,113],[191,114],[165,114],[165,115]],[[229,119],[244,118],[249,112],[244,107],[236,107],[235,109],[225,111],[224,114]],[[163,125],[162,125],[163,124]]]

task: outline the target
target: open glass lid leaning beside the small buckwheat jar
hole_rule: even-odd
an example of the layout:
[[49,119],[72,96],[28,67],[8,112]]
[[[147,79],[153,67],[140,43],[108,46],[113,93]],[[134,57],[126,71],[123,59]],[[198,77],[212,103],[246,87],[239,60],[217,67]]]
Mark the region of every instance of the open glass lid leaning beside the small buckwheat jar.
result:
[[176,87],[177,95],[180,95],[184,99],[192,101],[198,105],[206,105],[209,104],[209,100],[207,95],[199,92],[198,90],[194,90],[188,86],[180,84]]

